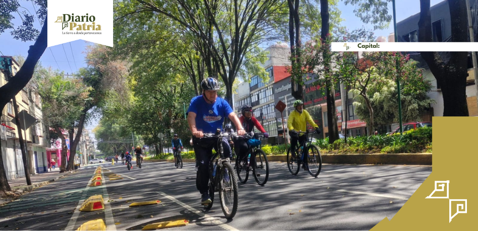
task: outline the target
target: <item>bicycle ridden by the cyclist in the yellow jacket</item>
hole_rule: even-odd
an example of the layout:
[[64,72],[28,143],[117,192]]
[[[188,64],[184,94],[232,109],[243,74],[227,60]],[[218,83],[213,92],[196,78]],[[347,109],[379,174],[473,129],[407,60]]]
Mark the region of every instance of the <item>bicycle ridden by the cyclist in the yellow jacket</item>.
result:
[[[298,131],[297,134],[314,134],[316,131]],[[304,140],[299,144],[295,150],[296,155],[293,157],[290,153],[290,147],[287,148],[287,167],[292,175],[297,175],[300,170],[300,165],[304,168],[304,171],[308,171],[312,177],[317,177],[322,170],[322,156],[318,147],[312,142],[312,137],[308,136],[307,140]],[[307,144],[307,145],[306,145]],[[305,147],[305,148],[304,148]],[[305,155],[307,153],[307,155]],[[297,157],[300,157],[297,158]]]

